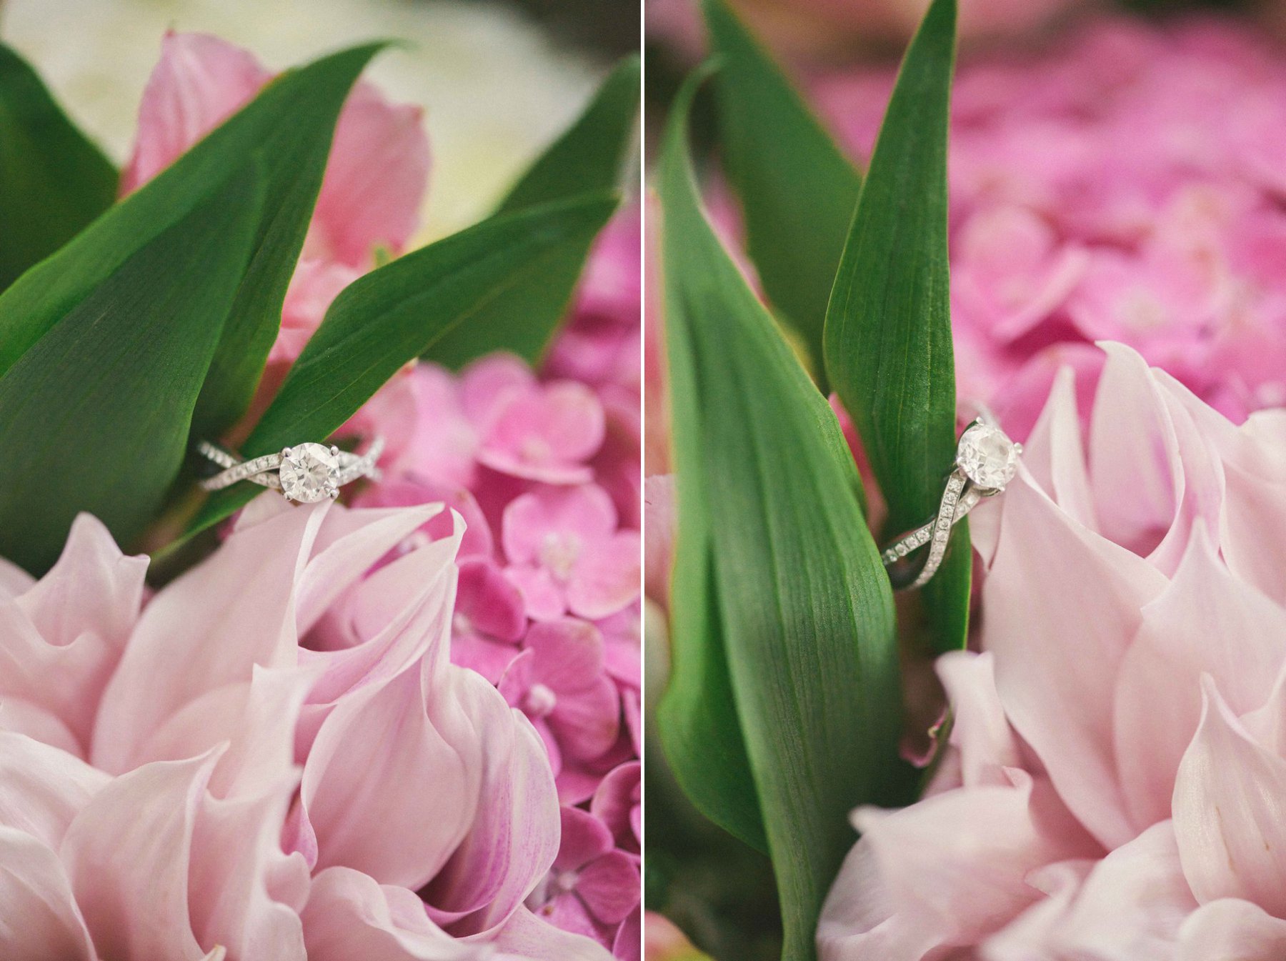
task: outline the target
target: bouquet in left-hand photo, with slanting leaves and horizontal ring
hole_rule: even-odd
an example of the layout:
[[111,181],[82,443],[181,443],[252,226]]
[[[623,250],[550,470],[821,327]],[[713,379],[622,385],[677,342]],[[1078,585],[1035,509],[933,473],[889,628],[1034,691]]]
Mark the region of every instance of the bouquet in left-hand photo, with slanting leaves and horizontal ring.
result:
[[379,49],[0,46],[6,960],[639,955],[638,63],[408,250]]

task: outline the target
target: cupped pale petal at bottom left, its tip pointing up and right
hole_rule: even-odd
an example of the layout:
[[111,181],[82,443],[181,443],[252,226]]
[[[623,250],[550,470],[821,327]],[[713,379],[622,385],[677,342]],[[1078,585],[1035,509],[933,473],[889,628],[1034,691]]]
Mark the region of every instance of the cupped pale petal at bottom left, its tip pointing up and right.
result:
[[188,913],[188,867],[216,762],[207,754],[147,764],[107,785],[72,821],[62,859],[100,956],[204,957]]

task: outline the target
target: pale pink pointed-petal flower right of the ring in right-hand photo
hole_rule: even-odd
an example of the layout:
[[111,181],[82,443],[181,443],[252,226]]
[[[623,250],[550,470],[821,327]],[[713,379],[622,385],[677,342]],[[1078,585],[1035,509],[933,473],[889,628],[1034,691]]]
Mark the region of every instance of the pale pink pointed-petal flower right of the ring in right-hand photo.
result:
[[1067,371],[977,512],[983,652],[926,798],[855,813],[826,961],[1286,946],[1286,419],[1105,351],[1088,444]]

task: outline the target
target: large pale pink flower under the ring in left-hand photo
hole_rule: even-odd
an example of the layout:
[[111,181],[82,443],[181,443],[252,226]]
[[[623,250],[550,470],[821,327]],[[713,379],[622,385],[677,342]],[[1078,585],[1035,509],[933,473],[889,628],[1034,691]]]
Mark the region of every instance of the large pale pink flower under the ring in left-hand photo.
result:
[[0,955],[606,957],[523,906],[553,773],[448,660],[459,518],[396,551],[440,509],[265,494],[147,602],[87,516],[40,581],[4,565]]

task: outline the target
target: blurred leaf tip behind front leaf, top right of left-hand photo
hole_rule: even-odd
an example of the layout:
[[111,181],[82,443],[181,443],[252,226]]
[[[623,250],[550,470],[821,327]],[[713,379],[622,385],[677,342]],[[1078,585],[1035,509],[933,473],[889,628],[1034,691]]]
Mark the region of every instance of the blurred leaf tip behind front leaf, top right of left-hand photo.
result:
[[580,117],[527,167],[496,212],[619,189],[622,170],[634,153],[638,109],[635,55],[616,64]]

